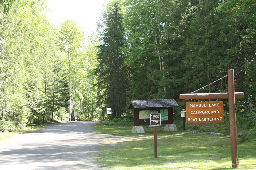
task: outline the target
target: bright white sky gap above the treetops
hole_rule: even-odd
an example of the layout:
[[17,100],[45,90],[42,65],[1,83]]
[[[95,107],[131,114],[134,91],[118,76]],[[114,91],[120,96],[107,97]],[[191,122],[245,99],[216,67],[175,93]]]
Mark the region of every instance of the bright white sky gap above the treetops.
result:
[[62,21],[72,19],[84,27],[85,36],[96,31],[96,22],[102,11],[101,5],[108,0],[49,0],[48,5],[52,7],[52,13],[47,17],[55,27],[60,27]]

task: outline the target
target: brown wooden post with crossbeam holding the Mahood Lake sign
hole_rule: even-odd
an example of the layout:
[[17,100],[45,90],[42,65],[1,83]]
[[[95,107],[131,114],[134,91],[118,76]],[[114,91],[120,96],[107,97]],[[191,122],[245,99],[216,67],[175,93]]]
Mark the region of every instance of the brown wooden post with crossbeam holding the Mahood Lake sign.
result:
[[244,92],[235,92],[234,70],[228,70],[228,93],[180,94],[180,99],[228,99],[229,121],[230,121],[230,141],[231,141],[231,161],[232,161],[233,168],[239,168],[237,137],[236,137],[235,98],[244,98]]

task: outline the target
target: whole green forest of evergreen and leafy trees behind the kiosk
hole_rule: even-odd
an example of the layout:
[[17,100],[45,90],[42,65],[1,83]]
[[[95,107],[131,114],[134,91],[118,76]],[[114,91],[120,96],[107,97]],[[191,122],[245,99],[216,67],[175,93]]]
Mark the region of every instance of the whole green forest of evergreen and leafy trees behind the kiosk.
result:
[[131,100],[174,99],[179,112],[179,94],[228,92],[228,69],[244,92],[236,114],[256,129],[256,0],[110,0],[89,35],[70,19],[54,27],[49,10],[0,0],[0,130],[74,111],[104,121],[108,107],[132,120]]

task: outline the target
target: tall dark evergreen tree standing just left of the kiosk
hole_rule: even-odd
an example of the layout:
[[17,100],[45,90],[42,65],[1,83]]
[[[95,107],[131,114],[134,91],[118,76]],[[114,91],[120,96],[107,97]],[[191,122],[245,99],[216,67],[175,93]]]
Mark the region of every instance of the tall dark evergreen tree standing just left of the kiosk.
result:
[[[99,66],[95,69],[99,100],[106,100],[106,107],[112,107],[113,116],[118,118],[126,106],[127,73],[124,66],[124,28],[118,1],[108,4],[99,24],[101,45],[98,54]],[[101,93],[102,92],[102,93]]]

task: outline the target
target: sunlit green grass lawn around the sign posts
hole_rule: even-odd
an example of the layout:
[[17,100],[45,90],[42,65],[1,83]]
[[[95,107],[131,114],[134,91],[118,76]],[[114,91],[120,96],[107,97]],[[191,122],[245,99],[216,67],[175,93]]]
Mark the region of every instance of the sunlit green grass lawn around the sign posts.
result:
[[[132,134],[132,126],[98,124],[99,134],[122,136],[99,147],[97,159],[103,167],[116,170],[217,170],[231,168],[229,136],[164,132],[157,127],[157,157],[154,158],[154,128],[143,126],[145,134]],[[256,169],[256,142],[238,140],[240,169]]]

